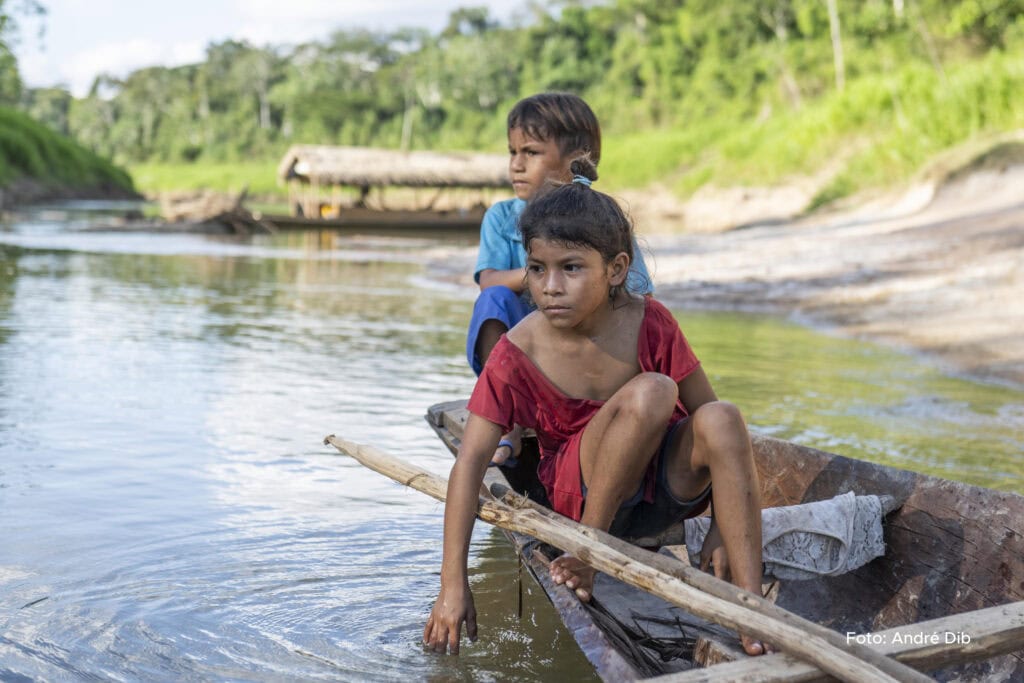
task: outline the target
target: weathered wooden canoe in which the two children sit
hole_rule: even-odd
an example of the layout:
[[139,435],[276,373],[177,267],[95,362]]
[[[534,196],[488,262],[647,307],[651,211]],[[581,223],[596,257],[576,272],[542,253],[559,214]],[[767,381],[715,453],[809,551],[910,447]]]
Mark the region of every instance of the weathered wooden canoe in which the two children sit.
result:
[[[428,412],[428,422],[453,454],[467,416],[465,401],[440,403]],[[849,490],[888,496],[897,506],[885,520],[883,557],[841,577],[776,582],[770,596],[780,607],[840,633],[860,634],[1024,600],[1024,497],[766,436],[755,435],[753,443],[764,507],[810,503]],[[513,488],[543,503],[537,458],[536,443],[527,441],[517,468],[490,468],[487,478],[504,481],[507,475]],[[694,666],[685,659],[659,663],[632,643],[624,648],[612,633],[614,624],[609,629],[602,614],[554,586],[528,538],[511,538],[602,679],[638,679]],[[654,541],[681,543],[682,525]],[[652,545],[652,540],[642,545]],[[599,574],[599,580],[607,578]],[[655,622],[682,622],[682,639],[695,639],[698,650],[700,642],[723,640],[721,628],[613,581],[598,584],[595,596],[604,598],[612,621],[620,624],[636,624],[637,613],[648,613]],[[725,640],[730,638],[725,633]],[[728,650],[719,648],[710,656],[728,656]],[[1024,680],[1024,650],[931,673],[939,680]]]

